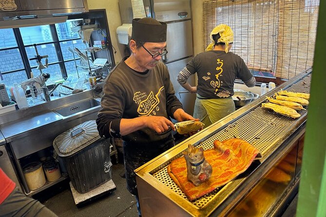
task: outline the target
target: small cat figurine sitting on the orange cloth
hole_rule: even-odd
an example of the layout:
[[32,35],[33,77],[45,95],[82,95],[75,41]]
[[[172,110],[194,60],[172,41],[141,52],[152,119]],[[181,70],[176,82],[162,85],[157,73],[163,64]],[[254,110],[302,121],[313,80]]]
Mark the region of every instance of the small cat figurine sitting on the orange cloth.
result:
[[195,186],[211,178],[211,165],[205,160],[203,147],[195,148],[191,144],[183,152],[187,163],[187,179]]

